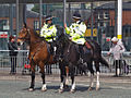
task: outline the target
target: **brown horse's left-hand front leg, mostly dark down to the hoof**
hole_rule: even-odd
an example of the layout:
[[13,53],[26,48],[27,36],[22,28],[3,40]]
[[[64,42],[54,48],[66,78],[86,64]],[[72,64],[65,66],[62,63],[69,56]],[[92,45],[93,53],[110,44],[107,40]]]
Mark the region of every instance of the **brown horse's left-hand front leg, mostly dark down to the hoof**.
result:
[[31,82],[31,87],[29,87],[29,91],[34,90],[34,86],[35,86],[35,65],[33,63],[31,63],[31,77],[32,77],[32,82]]

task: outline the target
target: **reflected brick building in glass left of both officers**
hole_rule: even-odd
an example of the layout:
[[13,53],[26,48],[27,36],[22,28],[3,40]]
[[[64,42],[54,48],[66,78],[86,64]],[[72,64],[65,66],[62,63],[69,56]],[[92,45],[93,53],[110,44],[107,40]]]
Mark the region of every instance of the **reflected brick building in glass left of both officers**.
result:
[[[8,49],[8,37],[9,35],[16,35],[16,10],[13,7],[13,33],[10,32],[10,5],[0,5],[0,50]],[[39,14],[33,11],[26,11],[26,23],[27,26],[34,29],[39,28]],[[2,36],[7,35],[7,36]],[[4,46],[3,46],[4,45]]]

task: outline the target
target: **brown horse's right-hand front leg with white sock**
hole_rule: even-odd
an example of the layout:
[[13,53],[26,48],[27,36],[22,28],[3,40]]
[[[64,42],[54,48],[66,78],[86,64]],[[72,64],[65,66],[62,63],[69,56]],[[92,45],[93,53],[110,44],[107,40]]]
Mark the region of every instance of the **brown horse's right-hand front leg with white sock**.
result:
[[47,86],[46,86],[46,82],[45,82],[45,64],[43,62],[39,62],[39,68],[40,68],[41,79],[43,79],[41,90],[46,91]]

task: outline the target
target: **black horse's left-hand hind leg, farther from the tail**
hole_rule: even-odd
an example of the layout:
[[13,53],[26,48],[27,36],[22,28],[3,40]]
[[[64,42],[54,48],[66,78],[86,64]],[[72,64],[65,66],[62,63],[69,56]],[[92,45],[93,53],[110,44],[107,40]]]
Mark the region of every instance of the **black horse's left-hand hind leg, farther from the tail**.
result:
[[93,63],[92,63],[92,62],[88,62],[88,63],[87,63],[87,68],[88,68],[88,70],[90,70],[90,72],[91,72],[91,76],[90,76],[91,81],[90,81],[88,90],[92,90],[92,87],[93,87],[93,85],[94,85],[94,70],[93,70]]

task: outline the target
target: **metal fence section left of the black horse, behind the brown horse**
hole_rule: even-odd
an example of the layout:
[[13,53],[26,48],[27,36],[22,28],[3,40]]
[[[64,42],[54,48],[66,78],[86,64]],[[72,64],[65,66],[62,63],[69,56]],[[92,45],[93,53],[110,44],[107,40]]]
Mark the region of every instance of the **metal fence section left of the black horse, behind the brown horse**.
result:
[[[10,50],[0,50],[0,72],[10,73],[13,66],[13,71],[22,74],[31,73],[31,65],[28,60],[28,50],[19,50],[16,57],[9,56]],[[59,64],[51,64],[45,66],[47,74],[59,74]],[[36,65],[36,73],[39,73],[39,68]]]

